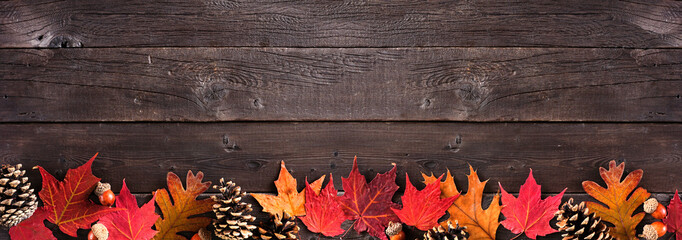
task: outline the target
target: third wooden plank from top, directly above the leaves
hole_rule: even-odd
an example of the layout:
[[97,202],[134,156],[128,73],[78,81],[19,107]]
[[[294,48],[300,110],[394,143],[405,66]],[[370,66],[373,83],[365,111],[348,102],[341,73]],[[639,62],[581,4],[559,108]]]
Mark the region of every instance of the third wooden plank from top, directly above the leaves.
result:
[[[565,123],[114,123],[2,124],[0,163],[41,165],[63,176],[100,152],[95,175],[120,188],[149,193],[173,171],[201,170],[207,180],[237,181],[249,192],[275,192],[279,161],[298,179],[348,176],[354,155],[372,178],[396,163],[404,173],[453,171],[466,186],[471,164],[491,182],[518,189],[533,168],[547,192],[582,192],[583,180],[601,182],[610,160],[641,168],[653,192],[682,189],[682,124]],[[37,171],[31,171],[39,179]],[[301,185],[302,186],[302,185]]]

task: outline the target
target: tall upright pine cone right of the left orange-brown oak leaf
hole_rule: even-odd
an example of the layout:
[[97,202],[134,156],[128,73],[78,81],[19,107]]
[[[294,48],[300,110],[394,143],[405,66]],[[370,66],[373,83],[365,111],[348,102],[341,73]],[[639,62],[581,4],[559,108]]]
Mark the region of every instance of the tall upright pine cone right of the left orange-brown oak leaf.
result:
[[223,178],[220,179],[220,185],[214,185],[213,188],[219,189],[221,193],[220,196],[211,197],[216,202],[213,204],[213,212],[217,218],[213,222],[215,235],[228,240],[253,236],[252,231],[256,226],[251,223],[256,217],[247,214],[251,212],[251,204],[241,201],[246,193],[232,181],[226,183]]

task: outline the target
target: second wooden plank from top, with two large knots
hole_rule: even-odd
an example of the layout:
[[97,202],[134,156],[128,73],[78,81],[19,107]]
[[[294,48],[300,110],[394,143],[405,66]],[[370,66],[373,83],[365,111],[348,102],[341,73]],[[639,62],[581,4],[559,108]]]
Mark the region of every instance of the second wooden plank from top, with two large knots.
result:
[[682,120],[681,49],[0,50],[0,121]]

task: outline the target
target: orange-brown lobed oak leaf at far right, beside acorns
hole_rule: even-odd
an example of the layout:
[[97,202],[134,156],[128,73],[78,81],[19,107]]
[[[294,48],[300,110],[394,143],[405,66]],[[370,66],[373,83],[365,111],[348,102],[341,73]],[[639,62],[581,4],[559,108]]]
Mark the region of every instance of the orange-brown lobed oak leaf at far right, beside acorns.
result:
[[[631,172],[621,182],[623,171],[625,171],[625,163],[616,166],[616,161],[611,161],[609,162],[609,170],[603,167],[599,168],[599,175],[606,182],[607,188],[603,188],[593,181],[584,181],[583,188],[587,194],[606,204],[607,207],[596,202],[586,202],[590,211],[595,212],[602,220],[615,226],[611,228],[609,234],[618,240],[634,240],[639,239],[636,236],[635,228],[644,218],[644,213],[641,212],[634,216],[632,214],[651,194],[641,187],[635,190],[642,179],[644,173],[642,169]],[[633,190],[635,192],[628,199],[628,195]]]

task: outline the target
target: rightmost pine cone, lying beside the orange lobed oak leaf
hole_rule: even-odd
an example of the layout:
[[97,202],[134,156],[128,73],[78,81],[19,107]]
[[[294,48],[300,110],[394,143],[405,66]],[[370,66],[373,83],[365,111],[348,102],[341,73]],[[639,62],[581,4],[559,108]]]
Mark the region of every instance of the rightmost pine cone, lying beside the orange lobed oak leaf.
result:
[[609,227],[595,213],[590,213],[585,202],[573,205],[573,198],[556,212],[559,232],[563,240],[614,240],[609,235]]

